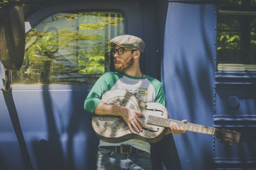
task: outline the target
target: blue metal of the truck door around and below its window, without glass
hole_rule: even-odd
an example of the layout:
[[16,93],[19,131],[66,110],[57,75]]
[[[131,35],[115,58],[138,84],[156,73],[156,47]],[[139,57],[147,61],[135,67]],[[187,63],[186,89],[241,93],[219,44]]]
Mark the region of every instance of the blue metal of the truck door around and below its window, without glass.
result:
[[[135,0],[59,2],[44,7],[27,21],[33,28],[51,14],[76,9],[121,9],[126,34],[143,39],[144,33],[150,33],[151,37],[145,38],[145,56],[152,63],[145,68],[142,58],[141,66],[145,74],[157,77],[157,67],[152,68],[156,61],[155,30],[143,32],[143,24],[155,25],[152,3],[142,10],[141,1]],[[0,75],[4,75],[2,69]],[[92,114],[83,110],[91,87],[14,86],[10,93],[1,92],[0,169],[96,169],[99,138],[91,126]]]

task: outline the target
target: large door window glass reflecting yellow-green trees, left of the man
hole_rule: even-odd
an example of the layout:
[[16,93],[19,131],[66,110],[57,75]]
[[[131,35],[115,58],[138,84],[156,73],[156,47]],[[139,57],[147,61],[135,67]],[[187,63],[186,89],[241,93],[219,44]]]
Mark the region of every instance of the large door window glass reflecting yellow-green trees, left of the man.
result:
[[23,66],[12,84],[93,85],[110,71],[108,42],[124,34],[117,12],[62,12],[26,34]]

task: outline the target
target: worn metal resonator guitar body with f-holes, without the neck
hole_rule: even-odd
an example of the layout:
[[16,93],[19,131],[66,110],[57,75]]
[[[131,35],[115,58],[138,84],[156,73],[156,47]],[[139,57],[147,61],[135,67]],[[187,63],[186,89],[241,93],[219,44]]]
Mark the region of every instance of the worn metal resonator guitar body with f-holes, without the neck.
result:
[[142,102],[132,93],[122,89],[113,89],[104,93],[101,100],[107,104],[130,108],[145,114],[145,116],[139,116],[145,125],[143,131],[138,133],[133,128],[134,134],[131,133],[121,116],[93,115],[92,126],[101,140],[119,143],[130,139],[139,139],[155,143],[165,135],[167,130],[165,127],[147,124],[149,116],[168,118],[168,112],[162,104]]

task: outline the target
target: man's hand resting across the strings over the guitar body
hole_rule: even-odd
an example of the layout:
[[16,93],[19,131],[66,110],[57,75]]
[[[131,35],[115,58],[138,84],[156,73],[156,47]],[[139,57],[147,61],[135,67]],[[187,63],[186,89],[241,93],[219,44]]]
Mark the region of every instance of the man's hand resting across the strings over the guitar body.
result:
[[[139,118],[139,116],[144,116],[144,114],[134,111],[132,109],[129,108],[125,108],[125,107],[120,107],[121,109],[121,115],[123,117],[123,120],[127,123],[130,131],[132,133],[134,133],[133,128],[139,133],[140,131],[142,131],[142,127],[144,127],[144,123],[142,122],[142,120]],[[133,128],[132,128],[133,126]]]

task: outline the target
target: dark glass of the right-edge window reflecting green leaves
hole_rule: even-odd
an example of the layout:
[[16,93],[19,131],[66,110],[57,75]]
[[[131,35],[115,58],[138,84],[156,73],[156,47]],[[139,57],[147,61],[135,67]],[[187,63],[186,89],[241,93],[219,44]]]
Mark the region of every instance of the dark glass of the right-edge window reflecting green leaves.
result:
[[[246,3],[247,2],[247,3]],[[256,0],[218,0],[222,6],[256,6]],[[256,17],[255,15],[218,15],[217,62],[256,64]]]

